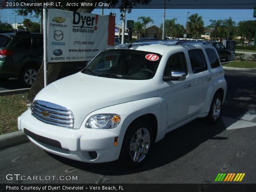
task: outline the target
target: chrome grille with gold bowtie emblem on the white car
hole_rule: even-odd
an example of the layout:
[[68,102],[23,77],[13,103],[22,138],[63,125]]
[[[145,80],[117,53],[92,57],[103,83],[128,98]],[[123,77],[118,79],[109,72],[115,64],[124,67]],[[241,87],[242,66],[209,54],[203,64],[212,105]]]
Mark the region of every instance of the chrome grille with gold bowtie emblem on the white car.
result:
[[67,128],[73,128],[74,115],[66,107],[46,101],[35,100],[31,106],[32,115],[38,120]]

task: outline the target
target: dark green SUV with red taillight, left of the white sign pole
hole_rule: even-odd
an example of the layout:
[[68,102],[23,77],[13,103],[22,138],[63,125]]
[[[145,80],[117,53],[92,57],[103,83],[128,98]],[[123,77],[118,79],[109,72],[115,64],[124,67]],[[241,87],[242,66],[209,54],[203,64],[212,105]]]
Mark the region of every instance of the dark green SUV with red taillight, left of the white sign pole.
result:
[[31,86],[43,59],[43,34],[11,32],[0,34],[0,78],[20,78]]

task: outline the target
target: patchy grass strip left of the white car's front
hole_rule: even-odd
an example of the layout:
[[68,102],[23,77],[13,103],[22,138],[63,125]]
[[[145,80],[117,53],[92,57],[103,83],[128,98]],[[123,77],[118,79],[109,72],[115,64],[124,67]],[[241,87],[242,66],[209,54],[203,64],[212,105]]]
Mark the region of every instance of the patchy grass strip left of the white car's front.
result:
[[26,109],[27,93],[0,96],[0,135],[18,130],[17,118]]

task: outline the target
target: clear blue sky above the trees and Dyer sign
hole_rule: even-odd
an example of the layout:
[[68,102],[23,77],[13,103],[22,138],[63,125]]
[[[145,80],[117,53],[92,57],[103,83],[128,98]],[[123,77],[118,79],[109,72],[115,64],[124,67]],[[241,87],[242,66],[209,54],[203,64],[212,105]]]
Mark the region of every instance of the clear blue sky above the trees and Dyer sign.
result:
[[[122,21],[120,20],[119,9],[104,9],[104,15],[108,15],[110,12],[116,13],[116,24],[121,25]],[[176,23],[182,24],[184,27],[186,25],[187,12],[189,12],[188,17],[192,14],[198,13],[199,16],[202,16],[204,21],[204,26],[210,25],[209,20],[224,20],[229,17],[232,18],[236,23],[243,20],[255,20],[253,17],[253,9],[248,10],[196,10],[196,9],[166,9],[166,19],[177,18]],[[93,14],[101,14],[101,9],[95,9]],[[16,13],[11,9],[0,10],[0,19],[1,22],[8,22],[10,24],[15,22]],[[126,13],[126,20],[134,20],[136,22],[138,17],[146,16],[154,20],[154,25],[160,27],[163,23],[163,9],[133,9],[132,13]],[[9,19],[8,19],[9,18]],[[29,17],[27,17],[29,18]],[[22,23],[24,17],[16,16],[16,22]],[[35,17],[29,18],[34,22],[39,22],[39,19]]]

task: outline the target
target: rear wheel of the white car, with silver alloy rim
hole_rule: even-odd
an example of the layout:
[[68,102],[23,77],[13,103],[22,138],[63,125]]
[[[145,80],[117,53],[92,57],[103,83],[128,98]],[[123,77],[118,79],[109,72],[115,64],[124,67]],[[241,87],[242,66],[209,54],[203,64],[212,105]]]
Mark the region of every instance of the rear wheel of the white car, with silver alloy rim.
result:
[[222,97],[220,96],[220,94],[216,93],[212,99],[210,111],[206,118],[208,123],[214,124],[218,122],[218,120],[220,120],[221,108],[222,108]]

